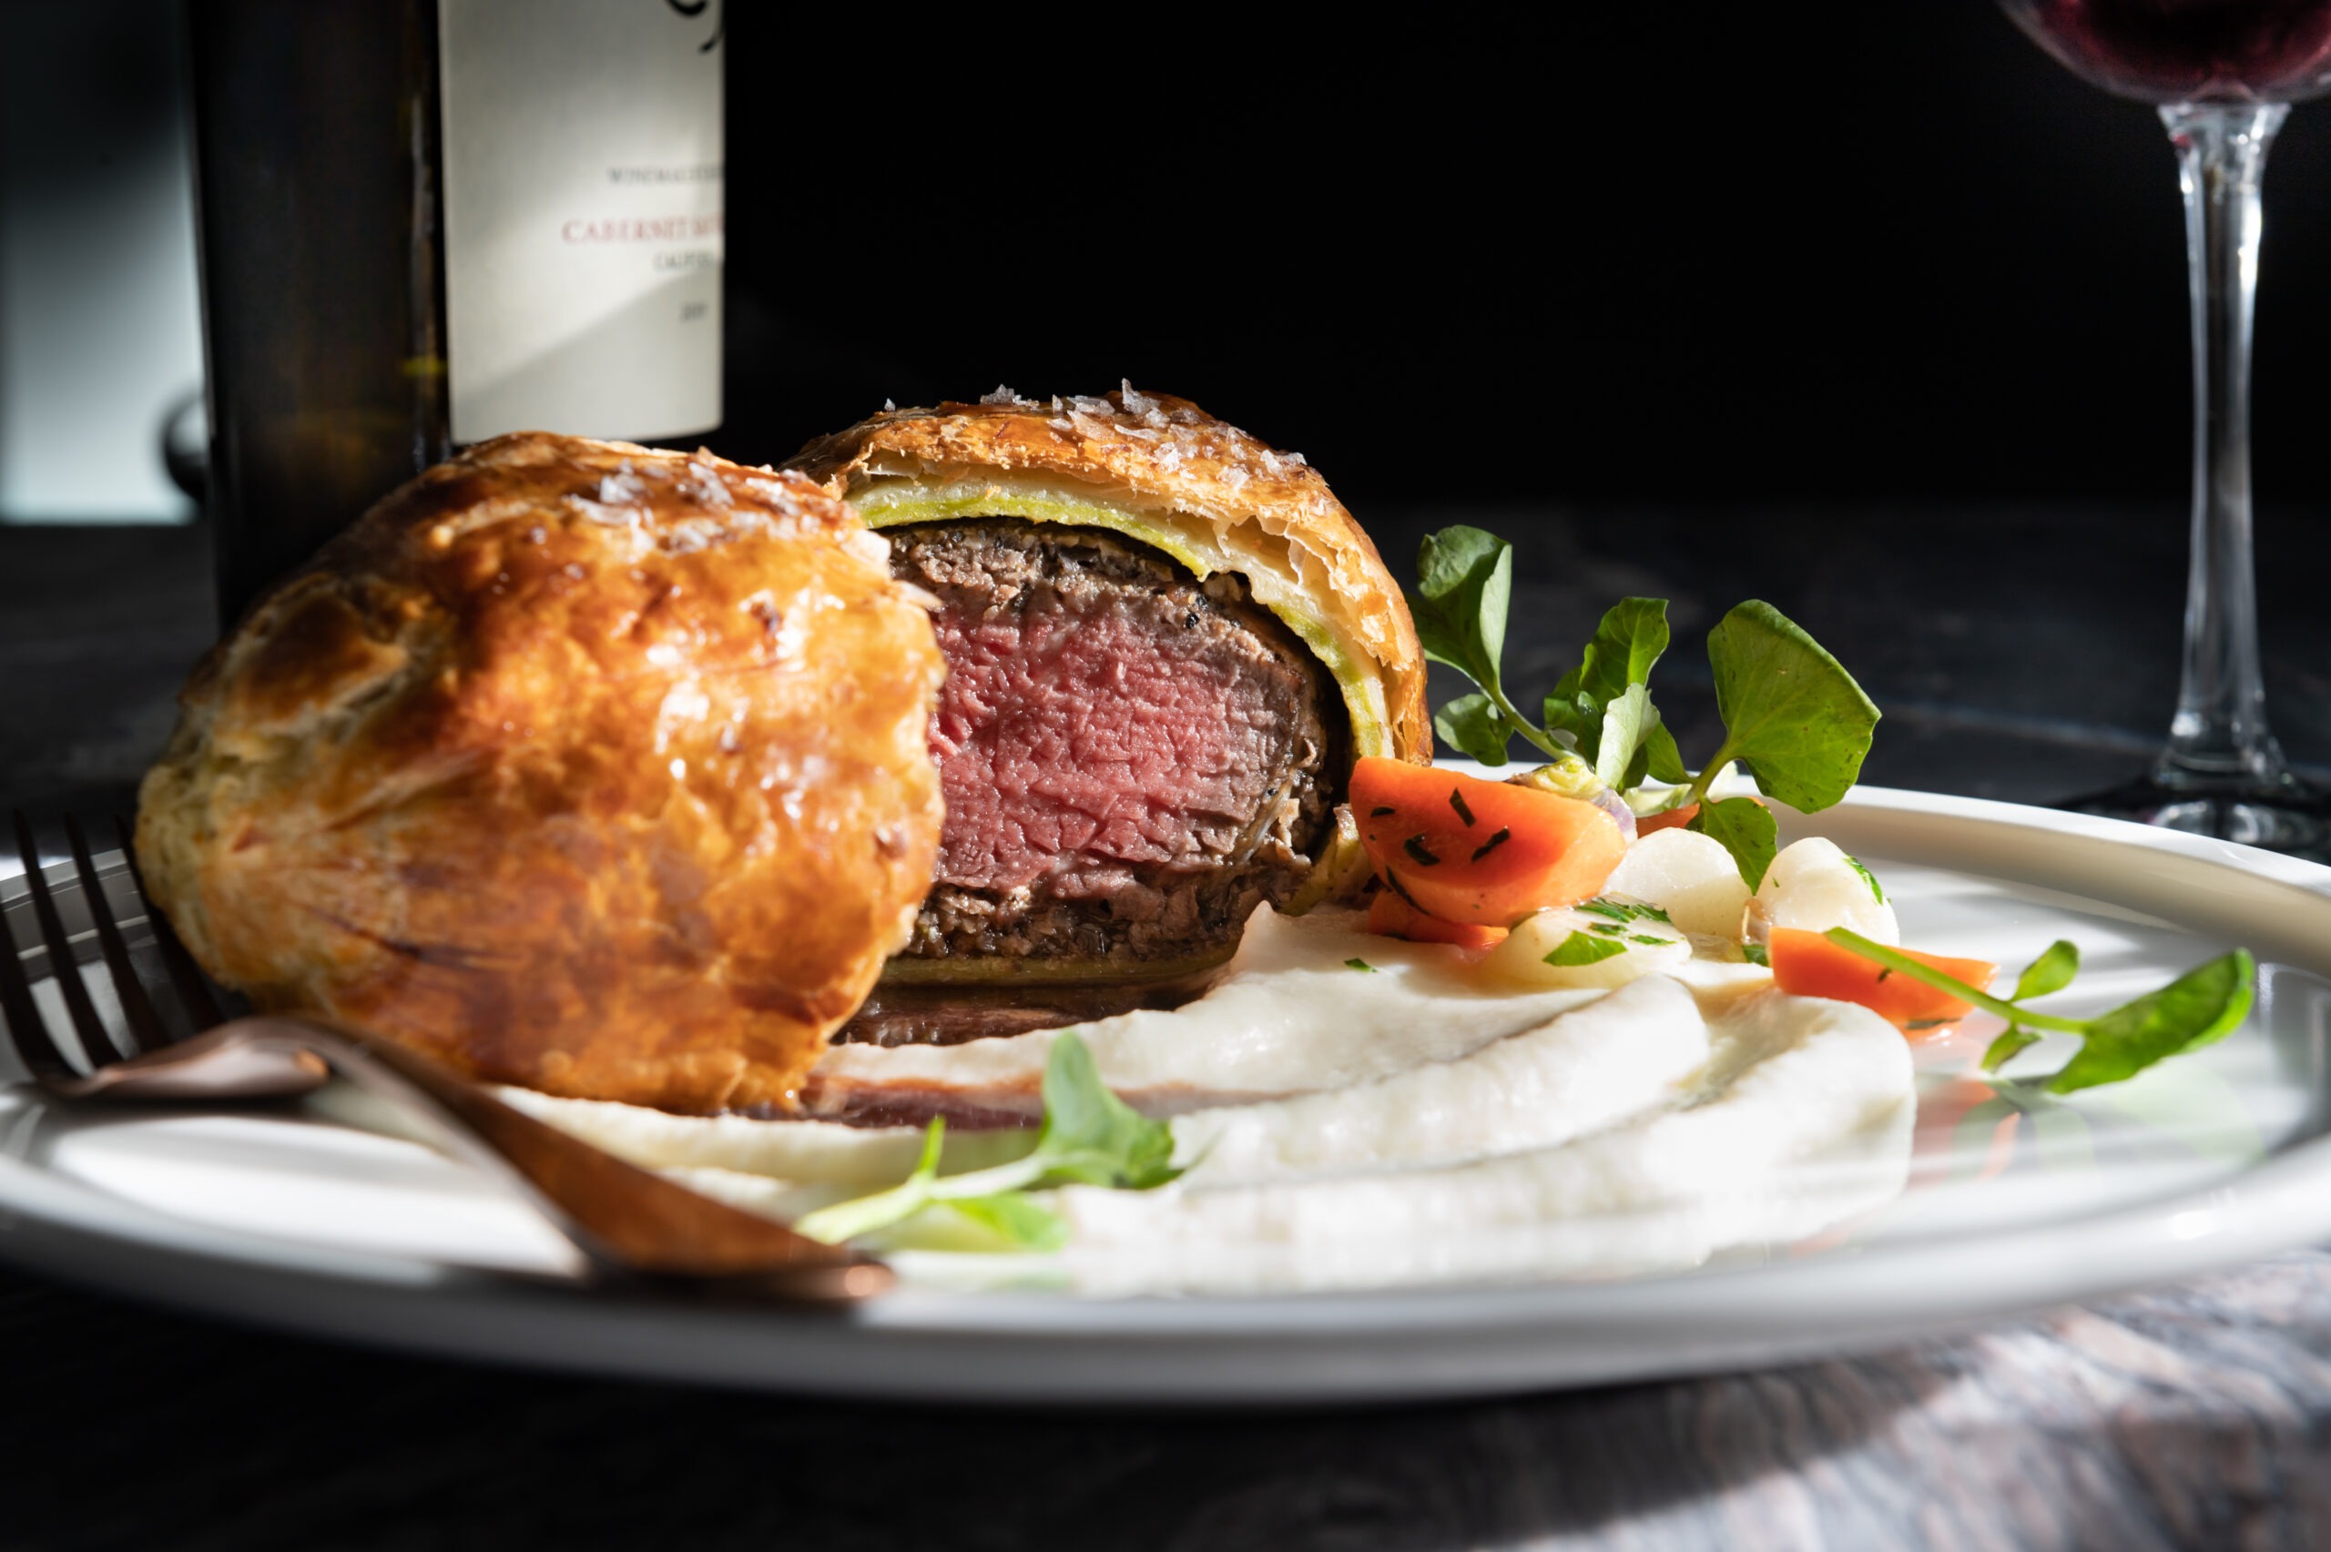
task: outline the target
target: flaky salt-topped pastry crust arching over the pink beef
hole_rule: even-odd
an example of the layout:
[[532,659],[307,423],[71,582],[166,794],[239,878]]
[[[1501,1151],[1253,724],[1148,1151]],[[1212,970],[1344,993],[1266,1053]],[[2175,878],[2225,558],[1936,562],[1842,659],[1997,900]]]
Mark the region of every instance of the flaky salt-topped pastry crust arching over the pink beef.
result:
[[[867,522],[935,515],[1089,520],[1093,503],[1163,538],[1200,576],[1238,571],[1343,680],[1361,755],[1431,762],[1424,652],[1375,543],[1301,454],[1131,385],[1098,398],[1016,398],[883,410],[823,436],[786,468],[860,506]],[[918,492],[895,508],[888,496]],[[1371,727],[1373,722],[1373,727]]]

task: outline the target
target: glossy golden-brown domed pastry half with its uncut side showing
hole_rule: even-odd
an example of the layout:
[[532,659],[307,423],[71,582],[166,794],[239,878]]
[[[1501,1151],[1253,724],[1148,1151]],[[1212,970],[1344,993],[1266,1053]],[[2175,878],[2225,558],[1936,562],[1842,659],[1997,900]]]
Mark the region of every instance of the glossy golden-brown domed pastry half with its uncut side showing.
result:
[[196,669],[138,855],[196,958],[485,1079],[786,1109],[930,883],[944,676],[793,473],[431,468]]

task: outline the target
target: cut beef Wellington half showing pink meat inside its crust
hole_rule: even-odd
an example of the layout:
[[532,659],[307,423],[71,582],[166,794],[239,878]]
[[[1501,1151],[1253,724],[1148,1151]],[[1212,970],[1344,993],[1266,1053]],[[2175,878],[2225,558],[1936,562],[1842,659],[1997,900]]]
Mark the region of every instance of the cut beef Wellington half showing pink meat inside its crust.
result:
[[1375,545],[1298,454],[1189,401],[1000,389],[886,410],[788,468],[939,599],[949,820],[890,1004],[1217,965],[1259,902],[1354,867],[1336,804],[1357,755],[1431,757]]

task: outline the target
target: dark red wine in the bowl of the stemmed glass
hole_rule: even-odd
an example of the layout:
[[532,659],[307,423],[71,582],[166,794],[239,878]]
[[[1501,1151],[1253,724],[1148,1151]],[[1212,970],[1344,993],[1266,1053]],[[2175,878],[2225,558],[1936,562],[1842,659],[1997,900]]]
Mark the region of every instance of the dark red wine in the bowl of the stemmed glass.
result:
[[2033,0],[2009,14],[2142,103],[2296,103],[2331,86],[2331,0]]

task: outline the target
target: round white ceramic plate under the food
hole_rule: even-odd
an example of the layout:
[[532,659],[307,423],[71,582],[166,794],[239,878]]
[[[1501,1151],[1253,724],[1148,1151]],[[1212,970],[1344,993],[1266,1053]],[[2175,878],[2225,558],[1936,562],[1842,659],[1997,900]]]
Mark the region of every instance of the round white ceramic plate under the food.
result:
[[[441,1354],[848,1396],[1303,1403],[1744,1368],[2182,1277],[2331,1237],[2331,869],[2117,820],[1860,790],[1790,820],[1862,855],[1904,939],[2021,967],[2054,937],[2100,1009],[2247,944],[2224,1044],[2068,1105],[1918,1051],[1909,1191],[1690,1272],[1275,1298],[907,1291],[848,1314],[615,1296],[522,1205],[298,1116],[75,1112],[0,1091],[0,1256],[191,1310]],[[16,881],[21,890],[21,881]],[[2051,1058],[2033,1051],[2028,1063]]]

